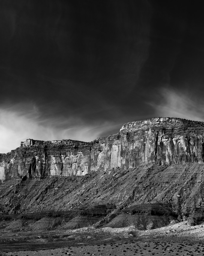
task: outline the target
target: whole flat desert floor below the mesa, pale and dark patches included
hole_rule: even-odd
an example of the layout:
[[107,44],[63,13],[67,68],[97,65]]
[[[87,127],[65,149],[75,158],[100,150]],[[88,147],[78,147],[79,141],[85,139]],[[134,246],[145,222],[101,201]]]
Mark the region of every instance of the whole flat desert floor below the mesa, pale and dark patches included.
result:
[[[204,225],[188,221],[152,230],[93,227],[0,235],[0,255],[204,255]],[[2,238],[1,238],[2,237]]]

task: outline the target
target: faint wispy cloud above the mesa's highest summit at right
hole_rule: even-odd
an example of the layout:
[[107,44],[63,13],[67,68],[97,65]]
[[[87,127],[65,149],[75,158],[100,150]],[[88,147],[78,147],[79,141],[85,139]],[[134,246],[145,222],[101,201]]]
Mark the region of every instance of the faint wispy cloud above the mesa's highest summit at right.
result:
[[204,104],[199,101],[198,96],[192,96],[190,92],[165,88],[161,90],[161,98],[159,104],[150,104],[155,108],[156,116],[204,121]]

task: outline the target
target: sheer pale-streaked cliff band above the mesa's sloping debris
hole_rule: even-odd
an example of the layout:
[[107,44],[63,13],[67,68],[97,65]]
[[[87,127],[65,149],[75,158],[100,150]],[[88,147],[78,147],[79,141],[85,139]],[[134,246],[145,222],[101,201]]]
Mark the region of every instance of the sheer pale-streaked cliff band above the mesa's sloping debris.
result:
[[203,163],[204,123],[152,118],[124,124],[120,132],[93,142],[27,139],[0,155],[0,180],[85,175],[114,167]]

